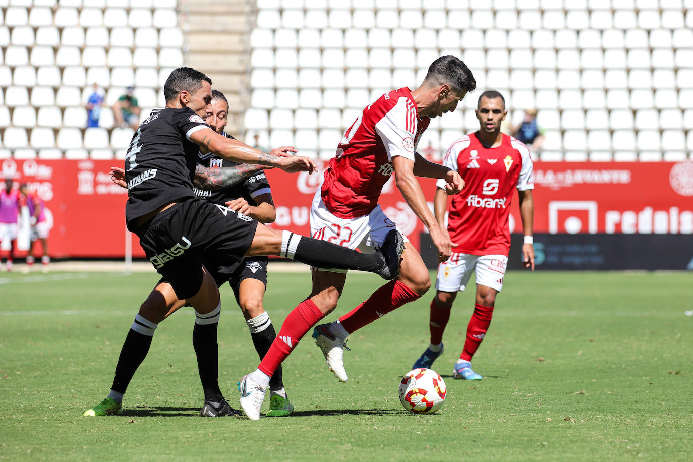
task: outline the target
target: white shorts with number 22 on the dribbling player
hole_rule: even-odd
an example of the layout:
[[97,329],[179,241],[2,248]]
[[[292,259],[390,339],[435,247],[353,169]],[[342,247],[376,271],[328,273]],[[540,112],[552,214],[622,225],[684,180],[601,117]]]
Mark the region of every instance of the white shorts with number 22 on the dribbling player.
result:
[[[397,224],[390,220],[379,205],[371,213],[358,218],[340,218],[327,210],[320,189],[313,196],[310,207],[310,236],[326,240],[349,249],[359,249],[364,254],[372,254],[383,244],[387,233],[397,229]],[[404,242],[409,242],[402,235]],[[315,268],[320,271],[346,273],[346,269]]]

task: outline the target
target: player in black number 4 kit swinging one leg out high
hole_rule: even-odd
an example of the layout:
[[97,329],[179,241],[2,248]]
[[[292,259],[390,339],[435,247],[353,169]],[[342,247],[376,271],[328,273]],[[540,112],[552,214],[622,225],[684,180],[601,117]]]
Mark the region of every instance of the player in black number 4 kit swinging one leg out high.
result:
[[[313,172],[315,163],[290,155],[293,148],[267,154],[213,131],[202,118],[211,112],[211,79],[195,69],[175,69],[166,80],[164,96],[166,108],[155,109],[141,123],[126,154],[125,220],[176,298],[195,309],[193,346],[204,389],[204,414],[204,408],[228,407],[218,385],[219,290],[204,261],[275,255],[306,265],[360,269],[393,279],[398,276],[403,240],[393,231],[380,251],[360,254],[290,231],[269,229],[231,208],[199,200],[193,193],[193,177],[200,148],[222,159],[287,172]],[[156,296],[164,297],[161,293]],[[129,382],[148,352],[158,322],[166,317],[166,313],[148,312],[146,305],[141,305],[123,344],[111,393],[85,415],[122,414],[127,383],[123,387],[119,377]]]

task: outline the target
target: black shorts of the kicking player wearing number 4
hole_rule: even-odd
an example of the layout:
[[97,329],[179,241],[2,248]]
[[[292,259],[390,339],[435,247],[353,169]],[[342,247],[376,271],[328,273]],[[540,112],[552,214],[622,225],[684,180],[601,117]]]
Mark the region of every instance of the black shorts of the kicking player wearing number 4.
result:
[[156,215],[137,230],[147,258],[179,299],[198,293],[204,261],[243,259],[257,223],[200,199],[188,199]]

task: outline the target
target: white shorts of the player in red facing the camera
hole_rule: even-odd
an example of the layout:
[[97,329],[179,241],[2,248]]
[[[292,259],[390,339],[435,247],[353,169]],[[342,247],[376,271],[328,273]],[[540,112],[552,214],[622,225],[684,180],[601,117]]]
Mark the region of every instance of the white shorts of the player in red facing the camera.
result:
[[438,266],[438,277],[435,288],[443,292],[464,290],[472,272],[476,274],[476,283],[485,285],[500,292],[508,265],[505,255],[471,255],[453,254],[448,261]]

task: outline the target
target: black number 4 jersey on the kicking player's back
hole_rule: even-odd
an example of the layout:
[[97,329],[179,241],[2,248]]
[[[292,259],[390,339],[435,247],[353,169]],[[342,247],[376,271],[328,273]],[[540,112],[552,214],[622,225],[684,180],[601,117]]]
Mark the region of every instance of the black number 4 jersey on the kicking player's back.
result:
[[190,135],[203,128],[209,125],[188,107],[154,109],[137,128],[125,154],[125,220],[130,231],[136,218],[169,202],[195,197],[192,180],[198,145]]

